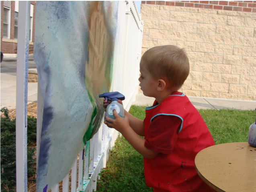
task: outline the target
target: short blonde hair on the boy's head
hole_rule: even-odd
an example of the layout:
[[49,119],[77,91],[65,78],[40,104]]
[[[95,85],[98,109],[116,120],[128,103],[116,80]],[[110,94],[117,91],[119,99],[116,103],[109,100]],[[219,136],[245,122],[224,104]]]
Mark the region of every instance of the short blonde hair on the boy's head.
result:
[[174,45],[156,46],[141,57],[141,65],[153,79],[166,78],[173,91],[183,85],[189,74],[188,57],[183,49]]

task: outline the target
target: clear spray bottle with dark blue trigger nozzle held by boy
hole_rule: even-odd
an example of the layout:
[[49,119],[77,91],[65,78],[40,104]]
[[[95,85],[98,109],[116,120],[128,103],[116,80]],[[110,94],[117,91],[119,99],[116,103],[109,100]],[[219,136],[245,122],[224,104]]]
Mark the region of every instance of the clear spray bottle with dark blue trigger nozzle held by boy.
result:
[[109,106],[106,108],[106,116],[115,119],[113,115],[113,109],[115,109],[120,117],[125,117],[125,110],[123,108],[123,105],[118,103],[118,100],[125,100],[125,96],[123,94],[115,91],[103,93],[102,95],[99,95],[99,97],[104,97],[106,100],[111,101]]

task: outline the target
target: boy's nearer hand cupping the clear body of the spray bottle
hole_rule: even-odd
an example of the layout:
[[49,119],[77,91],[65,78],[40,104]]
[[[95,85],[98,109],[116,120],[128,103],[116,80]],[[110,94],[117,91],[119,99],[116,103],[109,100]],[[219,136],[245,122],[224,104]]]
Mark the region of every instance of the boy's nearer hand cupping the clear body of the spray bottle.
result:
[[[121,100],[119,100],[121,101]],[[122,131],[127,128],[127,127],[130,127],[129,125],[129,119],[127,116],[125,116],[124,118],[123,117],[120,117],[118,114],[117,114],[117,111],[115,109],[113,109],[113,115],[115,117],[115,119],[112,119],[108,116],[105,117],[105,121],[104,123],[110,127],[110,128],[114,128],[116,129],[117,131],[119,131],[120,133],[122,133]]]

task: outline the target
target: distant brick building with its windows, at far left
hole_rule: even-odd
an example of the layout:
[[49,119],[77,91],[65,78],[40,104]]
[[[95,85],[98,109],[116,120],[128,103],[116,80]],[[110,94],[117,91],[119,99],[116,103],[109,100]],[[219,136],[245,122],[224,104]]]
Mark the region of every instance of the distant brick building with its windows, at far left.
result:
[[[1,47],[4,57],[17,57],[18,2],[1,1]],[[31,1],[29,54],[33,53],[36,1]]]

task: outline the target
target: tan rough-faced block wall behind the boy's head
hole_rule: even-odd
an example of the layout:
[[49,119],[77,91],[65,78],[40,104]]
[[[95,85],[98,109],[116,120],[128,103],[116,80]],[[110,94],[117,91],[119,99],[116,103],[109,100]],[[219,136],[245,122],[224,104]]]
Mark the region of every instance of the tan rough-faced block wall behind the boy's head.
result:
[[142,4],[141,14],[142,55],[166,44],[186,50],[190,74],[180,91],[256,100],[256,13]]

